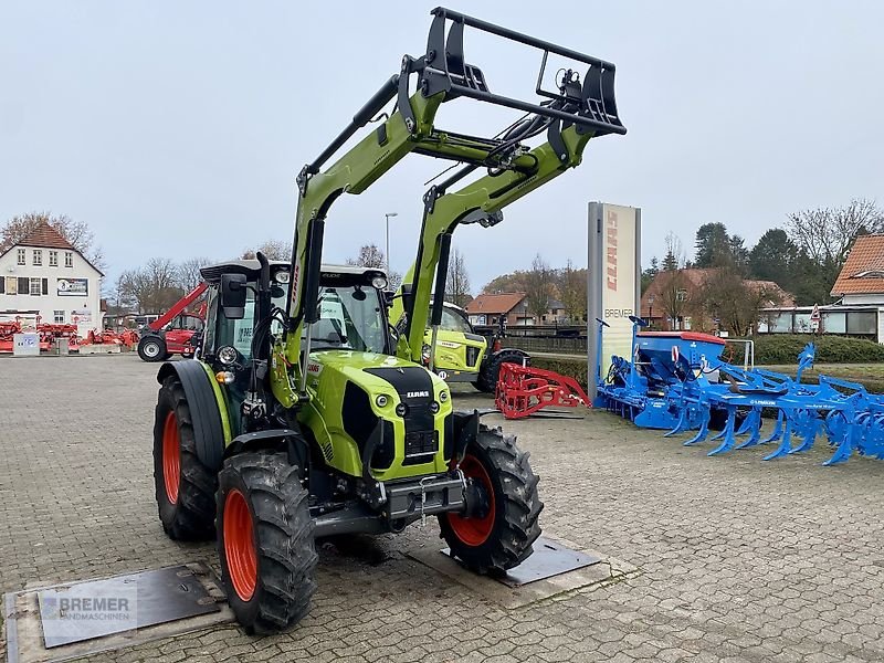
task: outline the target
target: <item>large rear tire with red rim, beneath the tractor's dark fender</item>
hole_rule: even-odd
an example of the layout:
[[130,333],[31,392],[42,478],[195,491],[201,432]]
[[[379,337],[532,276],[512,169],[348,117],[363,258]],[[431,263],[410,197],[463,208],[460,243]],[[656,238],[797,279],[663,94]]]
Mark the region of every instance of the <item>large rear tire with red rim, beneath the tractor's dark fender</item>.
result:
[[[168,427],[168,428],[167,428]],[[178,477],[166,482],[164,464],[167,434],[177,438]],[[175,441],[169,440],[170,448]],[[175,540],[206,540],[214,535],[214,492],[212,471],[197,456],[193,420],[181,381],[169,376],[162,381],[154,421],[154,484],[162,529]],[[171,495],[170,495],[171,488]]]

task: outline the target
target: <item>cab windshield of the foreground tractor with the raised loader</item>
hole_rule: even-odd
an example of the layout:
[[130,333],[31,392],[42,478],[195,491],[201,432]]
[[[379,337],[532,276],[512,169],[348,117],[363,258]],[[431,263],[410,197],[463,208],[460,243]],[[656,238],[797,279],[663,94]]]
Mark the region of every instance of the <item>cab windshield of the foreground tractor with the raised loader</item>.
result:
[[382,305],[373,287],[320,287],[319,319],[313,326],[311,350],[385,352]]

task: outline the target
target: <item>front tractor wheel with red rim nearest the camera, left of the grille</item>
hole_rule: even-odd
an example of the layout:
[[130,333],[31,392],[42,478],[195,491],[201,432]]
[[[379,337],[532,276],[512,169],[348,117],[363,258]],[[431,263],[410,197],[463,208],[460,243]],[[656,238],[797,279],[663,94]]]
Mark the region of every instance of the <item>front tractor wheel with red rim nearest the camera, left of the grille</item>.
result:
[[[227,513],[228,505],[233,511],[238,501],[234,495],[229,502],[234,492],[248,506],[252,536],[246,538],[256,564],[251,594],[238,590],[228,560],[228,550],[231,555],[238,550],[234,535],[242,532],[235,514]],[[298,469],[288,464],[285,454],[242,453],[228,459],[219,474],[215,525],[221,579],[236,620],[249,633],[278,633],[301,621],[309,610],[318,558],[308,499]],[[225,517],[230,518],[230,530]],[[235,560],[233,564],[236,573]]]

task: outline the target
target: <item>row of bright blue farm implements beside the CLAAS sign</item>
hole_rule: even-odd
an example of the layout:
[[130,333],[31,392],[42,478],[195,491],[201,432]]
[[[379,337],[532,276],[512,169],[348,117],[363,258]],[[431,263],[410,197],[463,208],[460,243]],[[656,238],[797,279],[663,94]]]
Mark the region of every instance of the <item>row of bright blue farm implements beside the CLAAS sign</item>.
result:
[[[777,443],[769,461],[810,450],[825,436],[835,451],[823,465],[853,454],[884,459],[884,396],[862,385],[820,376],[815,385],[801,376],[813,366],[814,346],[799,355],[794,378],[722,359],[725,340],[697,332],[648,332],[631,317],[632,360],[611,357],[607,376],[596,370],[593,407],[604,408],[641,428],[665,430],[664,436],[696,431],[691,446],[718,442],[708,455]],[[598,329],[601,356],[602,320]],[[776,414],[774,430],[761,436],[761,415]],[[711,435],[713,430],[718,432]],[[797,444],[793,445],[793,439]]]

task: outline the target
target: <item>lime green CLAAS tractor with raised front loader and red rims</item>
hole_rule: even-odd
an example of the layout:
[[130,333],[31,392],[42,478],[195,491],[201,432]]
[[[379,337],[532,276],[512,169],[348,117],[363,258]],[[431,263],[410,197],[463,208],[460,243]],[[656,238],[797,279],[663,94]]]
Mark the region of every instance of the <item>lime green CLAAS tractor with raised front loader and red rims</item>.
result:
[[[481,412],[454,409],[445,381],[422,365],[424,330],[429,316],[434,345],[460,224],[498,222],[505,206],[579,165],[591,138],[625,133],[614,67],[446,9],[432,15],[425,53],[404,56],[297,177],[291,262],[259,253],[204,269],[199,359],[166,362],[158,373],[160,520],[173,539],[215,538],[228,600],[249,632],[287,629],[307,612],[317,537],[398,533],[436,517],[466,567],[503,573],[528,558],[540,534],[528,454]],[[562,69],[551,90],[538,83],[540,103],[494,94],[464,59],[466,28],[539,50],[540,80],[550,54],[586,72]],[[439,109],[459,98],[527,115],[492,138],[439,128]],[[545,143],[526,145],[543,133]],[[407,320],[397,329],[385,273],[323,265],[323,240],[340,194],[362,193],[410,154],[460,167],[424,196]],[[487,172],[454,188],[478,169]]]

